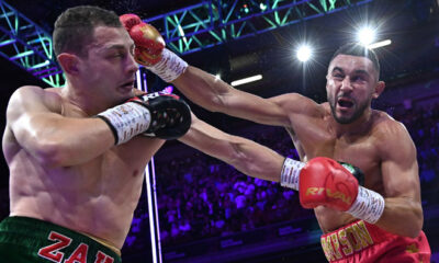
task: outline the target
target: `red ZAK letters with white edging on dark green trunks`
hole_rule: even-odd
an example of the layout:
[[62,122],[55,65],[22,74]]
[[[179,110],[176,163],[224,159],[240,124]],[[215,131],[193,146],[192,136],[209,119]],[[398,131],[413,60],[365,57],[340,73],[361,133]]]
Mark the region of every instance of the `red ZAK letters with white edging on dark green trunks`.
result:
[[[47,247],[41,248],[38,250],[38,256],[49,260],[56,263],[87,263],[87,256],[89,255],[89,245],[86,243],[80,243],[71,254],[66,255],[66,260],[63,261],[65,253],[60,250],[70,245],[72,239],[55,231],[50,231],[47,237],[48,240],[55,241],[55,243]],[[92,256],[92,255],[90,255]],[[113,263],[114,259],[106,255],[102,251],[98,250],[94,255],[94,263]]]

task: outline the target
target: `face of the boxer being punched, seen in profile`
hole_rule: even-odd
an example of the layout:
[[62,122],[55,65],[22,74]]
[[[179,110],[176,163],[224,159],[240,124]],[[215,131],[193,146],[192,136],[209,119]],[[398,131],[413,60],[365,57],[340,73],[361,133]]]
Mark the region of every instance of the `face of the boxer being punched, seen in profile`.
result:
[[82,58],[82,78],[95,94],[119,103],[133,96],[137,64],[134,43],[124,27],[97,26]]

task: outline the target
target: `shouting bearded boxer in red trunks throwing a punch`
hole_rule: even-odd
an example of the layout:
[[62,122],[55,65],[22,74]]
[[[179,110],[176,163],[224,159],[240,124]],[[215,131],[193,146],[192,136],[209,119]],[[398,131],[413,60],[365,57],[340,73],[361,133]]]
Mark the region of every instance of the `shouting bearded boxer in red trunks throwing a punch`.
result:
[[[326,75],[328,102],[319,104],[297,93],[262,99],[189,66],[164,45],[150,44],[162,43],[156,28],[132,23],[136,21],[133,14],[124,19],[130,22],[124,24],[136,43],[135,59],[175,84],[191,101],[214,112],[286,128],[301,160],[312,164],[303,172],[302,162],[286,159],[281,175],[258,178],[299,190],[302,206],[314,208],[324,235],[329,235],[330,240],[334,237],[334,243],[323,237],[328,260],[341,256],[347,262],[429,261],[430,249],[421,231],[424,216],[415,145],[403,124],[371,108],[372,100],[385,88],[373,50],[347,44],[334,54]],[[359,168],[364,184],[359,186],[334,161],[319,159],[316,164],[319,157]],[[383,243],[372,235],[368,248],[360,250],[351,243],[353,250],[349,251],[346,243],[340,252],[342,243],[351,240],[349,235],[347,239],[342,237],[344,227],[362,222],[370,232],[383,233],[389,240]],[[341,237],[334,231],[340,231]],[[344,249],[349,256],[341,254]]]

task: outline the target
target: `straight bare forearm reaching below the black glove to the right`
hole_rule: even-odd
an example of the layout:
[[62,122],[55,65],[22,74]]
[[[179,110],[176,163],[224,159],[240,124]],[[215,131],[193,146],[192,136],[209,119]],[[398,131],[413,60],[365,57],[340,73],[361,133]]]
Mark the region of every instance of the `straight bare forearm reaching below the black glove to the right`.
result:
[[255,141],[226,134],[192,115],[180,141],[235,167],[252,178],[279,182],[284,158]]

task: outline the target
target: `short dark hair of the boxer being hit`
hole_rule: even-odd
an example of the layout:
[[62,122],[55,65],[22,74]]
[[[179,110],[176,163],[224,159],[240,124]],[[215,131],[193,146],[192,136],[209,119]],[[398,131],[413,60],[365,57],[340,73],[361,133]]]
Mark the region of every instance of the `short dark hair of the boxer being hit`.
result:
[[86,56],[85,44],[99,25],[122,27],[119,16],[99,7],[80,5],[64,11],[55,22],[53,34],[55,55],[71,52]]

